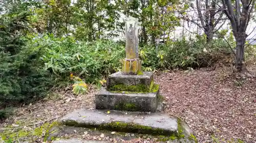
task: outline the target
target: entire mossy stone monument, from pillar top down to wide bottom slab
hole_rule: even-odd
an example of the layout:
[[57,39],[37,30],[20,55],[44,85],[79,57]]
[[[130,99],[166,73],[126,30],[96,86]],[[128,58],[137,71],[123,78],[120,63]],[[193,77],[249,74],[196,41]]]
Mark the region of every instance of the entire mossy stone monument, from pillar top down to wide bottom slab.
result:
[[[126,59],[123,72],[109,75],[106,88],[95,95],[96,109],[76,109],[59,122],[67,126],[120,132],[164,135],[179,139],[190,136],[182,120],[162,111],[163,97],[152,72],[141,71],[138,58],[138,20],[126,21]],[[130,27],[128,27],[130,25]]]

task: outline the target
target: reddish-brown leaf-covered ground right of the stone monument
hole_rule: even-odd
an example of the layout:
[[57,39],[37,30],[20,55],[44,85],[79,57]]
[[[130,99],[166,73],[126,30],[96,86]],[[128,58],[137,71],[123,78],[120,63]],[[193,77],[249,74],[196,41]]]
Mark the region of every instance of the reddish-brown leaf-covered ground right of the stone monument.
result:
[[256,80],[252,75],[200,69],[165,73],[156,81],[166,96],[165,110],[184,119],[199,142],[215,138],[256,141]]

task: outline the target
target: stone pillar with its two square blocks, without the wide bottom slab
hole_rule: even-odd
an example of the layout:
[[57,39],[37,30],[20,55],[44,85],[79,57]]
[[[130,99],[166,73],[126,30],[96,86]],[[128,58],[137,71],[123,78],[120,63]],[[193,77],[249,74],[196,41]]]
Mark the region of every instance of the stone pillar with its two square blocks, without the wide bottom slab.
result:
[[138,51],[138,19],[125,22],[123,71],[109,75],[106,89],[96,95],[96,109],[155,112],[159,85],[152,72],[141,71]]

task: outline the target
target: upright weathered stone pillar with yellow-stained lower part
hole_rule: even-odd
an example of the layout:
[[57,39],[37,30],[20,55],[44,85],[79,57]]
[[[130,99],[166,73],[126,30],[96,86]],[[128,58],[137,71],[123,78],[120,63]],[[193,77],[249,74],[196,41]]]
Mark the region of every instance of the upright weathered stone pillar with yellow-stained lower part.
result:
[[138,19],[130,18],[125,22],[125,59],[123,60],[123,74],[136,75],[141,72],[139,60]]

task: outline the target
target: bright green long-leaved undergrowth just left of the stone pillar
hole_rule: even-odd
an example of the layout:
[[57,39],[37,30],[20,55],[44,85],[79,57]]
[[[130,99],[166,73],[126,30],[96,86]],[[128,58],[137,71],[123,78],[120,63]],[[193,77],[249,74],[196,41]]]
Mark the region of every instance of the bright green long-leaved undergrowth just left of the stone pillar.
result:
[[124,47],[112,41],[81,42],[72,37],[34,37],[27,48],[40,50],[45,70],[59,77],[72,72],[86,82],[95,82],[121,69]]

